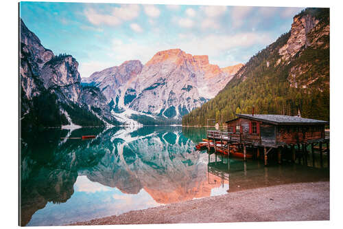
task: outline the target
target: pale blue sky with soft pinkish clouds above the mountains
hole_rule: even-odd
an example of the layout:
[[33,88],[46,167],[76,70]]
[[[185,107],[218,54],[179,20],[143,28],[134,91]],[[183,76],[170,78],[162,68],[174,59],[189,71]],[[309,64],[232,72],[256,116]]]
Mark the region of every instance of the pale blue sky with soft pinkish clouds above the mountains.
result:
[[246,63],[303,8],[21,2],[19,10],[45,48],[76,58],[84,78],[174,48],[220,67]]

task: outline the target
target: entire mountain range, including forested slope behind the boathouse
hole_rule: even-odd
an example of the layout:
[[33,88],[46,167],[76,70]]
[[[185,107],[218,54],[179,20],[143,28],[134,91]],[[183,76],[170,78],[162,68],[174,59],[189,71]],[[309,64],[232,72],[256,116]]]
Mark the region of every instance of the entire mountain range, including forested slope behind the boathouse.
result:
[[73,56],[47,50],[22,20],[19,40],[22,127],[223,123],[254,106],[329,120],[326,8],[303,10],[248,63],[224,68],[171,49],[81,78]]

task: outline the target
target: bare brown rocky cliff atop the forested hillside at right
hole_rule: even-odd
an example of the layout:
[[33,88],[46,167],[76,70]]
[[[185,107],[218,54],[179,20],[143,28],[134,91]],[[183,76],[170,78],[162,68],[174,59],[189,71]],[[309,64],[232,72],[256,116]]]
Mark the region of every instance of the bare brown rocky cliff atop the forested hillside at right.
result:
[[[322,56],[329,55],[329,14],[327,18],[322,17],[318,12],[294,17],[289,39],[279,50],[279,63],[283,61],[281,65],[289,65],[292,62],[287,78],[291,87],[314,87],[320,91],[329,88],[329,58],[326,65],[316,66],[322,61]],[[305,58],[311,58],[311,61]],[[311,74],[303,77],[308,72]]]

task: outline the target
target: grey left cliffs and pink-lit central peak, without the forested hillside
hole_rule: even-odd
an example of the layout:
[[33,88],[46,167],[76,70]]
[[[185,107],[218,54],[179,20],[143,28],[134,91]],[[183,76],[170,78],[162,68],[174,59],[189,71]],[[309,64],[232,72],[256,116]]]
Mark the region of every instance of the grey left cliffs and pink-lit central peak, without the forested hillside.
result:
[[73,56],[54,55],[20,24],[22,127],[180,124],[242,66],[221,69],[208,56],[172,49],[81,78]]

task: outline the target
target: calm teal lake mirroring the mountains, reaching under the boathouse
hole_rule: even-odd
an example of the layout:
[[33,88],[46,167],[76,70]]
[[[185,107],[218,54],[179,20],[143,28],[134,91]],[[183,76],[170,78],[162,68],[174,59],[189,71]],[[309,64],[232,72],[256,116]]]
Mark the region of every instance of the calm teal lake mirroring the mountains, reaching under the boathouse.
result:
[[[96,138],[70,139],[82,135]],[[21,224],[63,225],[248,188],[329,180],[325,155],[323,166],[319,155],[306,165],[263,166],[197,151],[205,137],[206,129],[196,127],[22,131]]]

